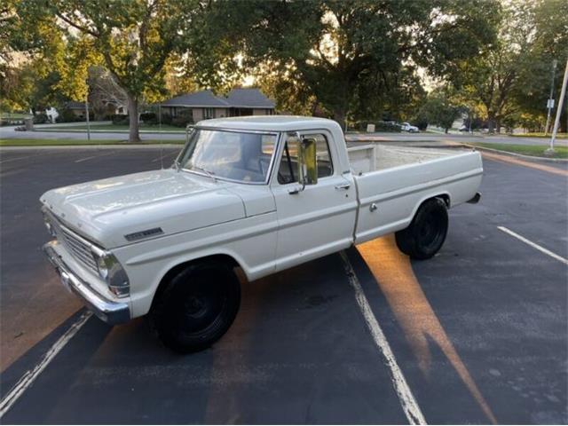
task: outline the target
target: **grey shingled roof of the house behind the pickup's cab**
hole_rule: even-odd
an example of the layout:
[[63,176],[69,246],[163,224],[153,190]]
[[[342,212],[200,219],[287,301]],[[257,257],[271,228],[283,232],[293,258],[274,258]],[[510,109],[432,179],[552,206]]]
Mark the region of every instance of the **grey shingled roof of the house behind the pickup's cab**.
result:
[[256,88],[233,89],[226,98],[212,91],[196,91],[162,102],[162,106],[191,106],[209,108],[273,108],[274,102]]

